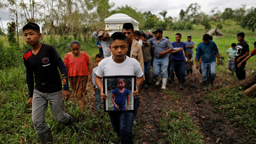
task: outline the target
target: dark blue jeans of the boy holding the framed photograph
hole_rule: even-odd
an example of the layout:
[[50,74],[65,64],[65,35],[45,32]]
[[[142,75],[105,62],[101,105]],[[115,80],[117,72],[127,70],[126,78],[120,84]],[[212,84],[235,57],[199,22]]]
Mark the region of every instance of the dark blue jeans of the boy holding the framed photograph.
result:
[[108,112],[114,131],[121,137],[122,144],[133,144],[132,125],[134,112]]

